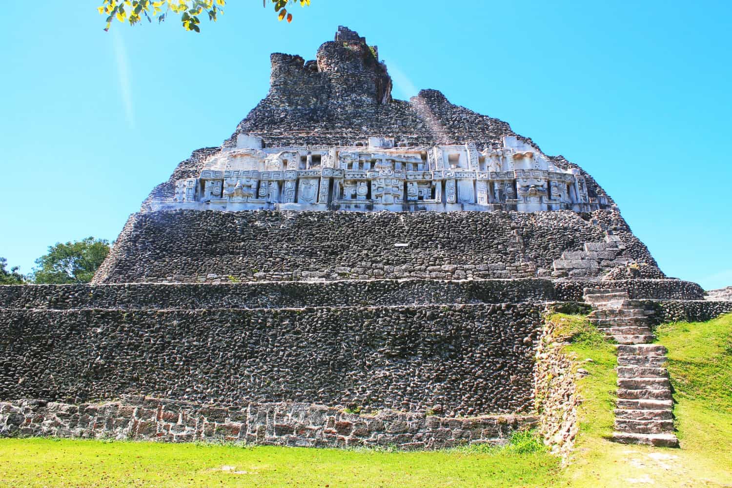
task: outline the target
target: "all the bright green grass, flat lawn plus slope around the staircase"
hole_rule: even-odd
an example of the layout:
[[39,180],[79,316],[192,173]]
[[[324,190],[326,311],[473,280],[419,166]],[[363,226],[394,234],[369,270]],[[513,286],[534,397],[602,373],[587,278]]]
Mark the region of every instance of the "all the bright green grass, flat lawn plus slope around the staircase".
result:
[[[567,468],[526,438],[504,449],[335,449],[0,440],[2,487],[732,487],[732,315],[658,329],[670,351],[680,449],[624,446],[613,429],[613,345],[561,320],[579,380],[580,432]],[[587,361],[589,359],[589,361]]]

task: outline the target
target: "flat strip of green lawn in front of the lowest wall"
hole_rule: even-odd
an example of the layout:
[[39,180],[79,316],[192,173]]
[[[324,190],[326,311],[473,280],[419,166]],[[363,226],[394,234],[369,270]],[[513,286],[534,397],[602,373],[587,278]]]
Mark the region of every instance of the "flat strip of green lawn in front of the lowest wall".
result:
[[545,487],[545,451],[384,452],[94,440],[0,441],[4,487]]

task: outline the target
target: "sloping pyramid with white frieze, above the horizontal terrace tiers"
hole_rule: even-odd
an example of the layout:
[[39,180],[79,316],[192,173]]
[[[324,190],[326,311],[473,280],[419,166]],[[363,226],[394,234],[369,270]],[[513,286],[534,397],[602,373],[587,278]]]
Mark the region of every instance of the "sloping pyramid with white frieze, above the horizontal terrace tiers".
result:
[[94,282],[664,277],[588,173],[438,91],[393,100],[354,31],[271,60],[267,97],[152,191]]

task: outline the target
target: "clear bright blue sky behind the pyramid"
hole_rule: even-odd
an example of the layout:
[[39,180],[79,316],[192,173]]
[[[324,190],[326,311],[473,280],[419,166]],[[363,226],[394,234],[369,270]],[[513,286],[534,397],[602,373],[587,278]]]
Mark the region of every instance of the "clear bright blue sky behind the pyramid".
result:
[[[605,187],[672,277],[732,285],[732,2],[229,0],[202,33],[102,31],[97,1],[10,2],[0,52],[0,256],[115,239],[191,151],[266,95],[269,53],[313,59],[338,25],[379,47],[394,95],[441,90]],[[354,5],[352,7],[347,5]]]

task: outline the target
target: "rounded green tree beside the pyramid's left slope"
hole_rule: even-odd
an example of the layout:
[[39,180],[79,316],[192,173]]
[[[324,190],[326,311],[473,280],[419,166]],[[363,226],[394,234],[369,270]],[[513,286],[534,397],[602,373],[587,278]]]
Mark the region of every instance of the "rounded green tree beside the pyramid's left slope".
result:
[[36,260],[33,281],[51,285],[88,283],[109,249],[109,241],[93,237],[65,244],[57,242],[48,247],[48,254]]

